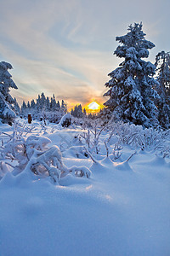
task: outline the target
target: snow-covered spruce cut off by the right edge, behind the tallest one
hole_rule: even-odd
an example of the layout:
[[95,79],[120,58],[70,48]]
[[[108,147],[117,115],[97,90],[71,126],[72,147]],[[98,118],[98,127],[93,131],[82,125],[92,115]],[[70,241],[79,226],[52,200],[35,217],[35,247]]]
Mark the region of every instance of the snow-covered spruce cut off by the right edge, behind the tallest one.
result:
[[159,121],[163,128],[170,128],[170,53],[161,51],[156,55],[156,91],[161,97],[158,103]]

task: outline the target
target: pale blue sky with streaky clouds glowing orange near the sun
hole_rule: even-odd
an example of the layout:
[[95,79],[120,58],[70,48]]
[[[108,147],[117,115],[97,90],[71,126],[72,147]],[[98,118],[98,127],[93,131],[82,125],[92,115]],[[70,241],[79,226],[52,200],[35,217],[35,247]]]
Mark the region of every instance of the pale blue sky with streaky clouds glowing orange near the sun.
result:
[[156,44],[148,61],[170,50],[169,0],[0,0],[0,60],[18,86],[21,104],[55,94],[68,108],[103,103],[105,83],[119,63],[116,36],[143,22],[146,39]]

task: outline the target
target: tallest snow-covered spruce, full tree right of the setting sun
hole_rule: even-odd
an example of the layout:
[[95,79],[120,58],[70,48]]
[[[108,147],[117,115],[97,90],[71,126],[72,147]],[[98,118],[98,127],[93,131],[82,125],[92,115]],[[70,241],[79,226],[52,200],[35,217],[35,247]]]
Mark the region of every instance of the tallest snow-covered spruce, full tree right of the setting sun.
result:
[[109,90],[104,96],[110,99],[104,103],[115,120],[143,125],[144,127],[159,125],[156,100],[159,96],[153,86],[156,80],[152,77],[156,67],[147,58],[149,50],[155,45],[144,39],[142,23],[134,23],[128,27],[125,36],[116,37],[121,43],[114,54],[124,61],[109,73],[111,80],[105,84]]

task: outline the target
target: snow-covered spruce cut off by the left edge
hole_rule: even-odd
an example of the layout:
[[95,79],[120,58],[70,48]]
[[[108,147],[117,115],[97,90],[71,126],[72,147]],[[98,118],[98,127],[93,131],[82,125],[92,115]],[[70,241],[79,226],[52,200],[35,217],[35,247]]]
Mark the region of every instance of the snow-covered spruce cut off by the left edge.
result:
[[9,94],[9,88],[18,89],[8,69],[12,69],[12,65],[8,62],[0,62],[0,119],[3,123],[11,123],[14,120],[14,99]]

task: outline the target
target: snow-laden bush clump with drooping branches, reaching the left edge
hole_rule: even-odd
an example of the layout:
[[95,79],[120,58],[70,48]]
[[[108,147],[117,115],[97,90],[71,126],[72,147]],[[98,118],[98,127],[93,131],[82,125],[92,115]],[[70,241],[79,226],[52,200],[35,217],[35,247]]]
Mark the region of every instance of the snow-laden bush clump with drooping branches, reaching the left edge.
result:
[[[56,145],[48,147],[51,140],[48,137],[31,135],[24,137],[20,131],[9,136],[8,142],[0,148],[0,169],[7,172],[4,160],[14,161],[12,173],[16,176],[20,172],[33,172],[41,177],[51,177],[54,183],[71,173],[77,177],[90,177],[90,170],[85,166],[67,168],[62,160],[62,154]],[[16,164],[18,163],[18,165]],[[3,176],[3,175],[0,175]]]

